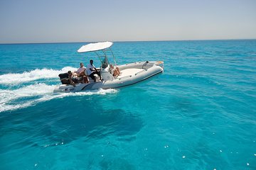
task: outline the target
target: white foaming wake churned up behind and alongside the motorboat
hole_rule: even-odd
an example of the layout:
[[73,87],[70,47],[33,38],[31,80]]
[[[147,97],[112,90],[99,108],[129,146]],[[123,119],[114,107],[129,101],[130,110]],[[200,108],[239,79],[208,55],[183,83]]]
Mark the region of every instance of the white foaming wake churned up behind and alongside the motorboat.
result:
[[[0,76],[0,84],[5,86],[17,85],[22,83],[30,83],[37,79],[55,79],[58,74],[74,71],[73,67],[64,67],[61,70],[54,69],[35,69],[31,72],[23,72],[21,74],[3,74]],[[32,83],[32,82],[31,82]],[[34,82],[33,82],[34,83]],[[88,95],[105,95],[117,93],[115,89],[98,89],[95,91],[81,91],[77,93],[53,94],[55,85],[46,83],[31,84],[23,86],[19,89],[0,89],[0,112],[13,111],[18,108],[26,108],[36,105],[43,101],[50,101],[53,98],[63,98],[67,96],[88,96]],[[35,99],[36,98],[36,99]],[[21,99],[21,100],[18,100]]]

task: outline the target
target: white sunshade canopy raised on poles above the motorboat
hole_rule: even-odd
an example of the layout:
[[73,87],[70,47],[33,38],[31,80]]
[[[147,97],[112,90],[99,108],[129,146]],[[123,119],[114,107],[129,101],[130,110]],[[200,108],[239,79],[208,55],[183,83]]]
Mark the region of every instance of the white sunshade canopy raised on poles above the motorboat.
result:
[[87,45],[82,45],[78,52],[93,52],[98,50],[104,50],[108,47],[111,47],[111,45],[113,45],[113,42],[110,41],[90,43]]

